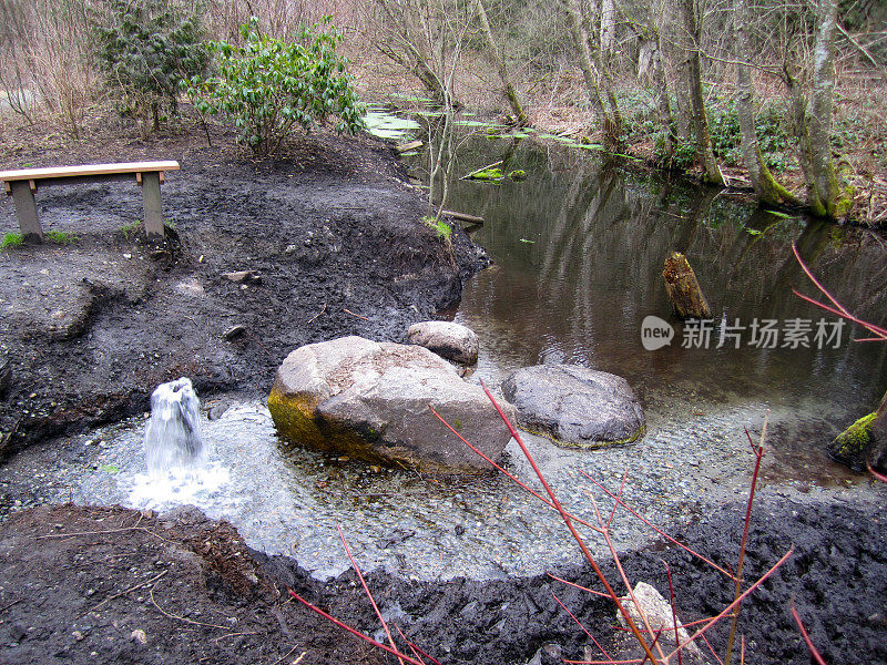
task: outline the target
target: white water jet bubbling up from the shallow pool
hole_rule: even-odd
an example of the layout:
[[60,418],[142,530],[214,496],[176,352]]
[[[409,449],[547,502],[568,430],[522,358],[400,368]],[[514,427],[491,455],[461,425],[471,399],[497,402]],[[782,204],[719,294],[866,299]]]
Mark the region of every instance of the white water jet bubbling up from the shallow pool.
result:
[[161,383],[151,395],[151,421],[145,430],[145,459],[151,475],[203,466],[200,409],[197,393],[185,377]]

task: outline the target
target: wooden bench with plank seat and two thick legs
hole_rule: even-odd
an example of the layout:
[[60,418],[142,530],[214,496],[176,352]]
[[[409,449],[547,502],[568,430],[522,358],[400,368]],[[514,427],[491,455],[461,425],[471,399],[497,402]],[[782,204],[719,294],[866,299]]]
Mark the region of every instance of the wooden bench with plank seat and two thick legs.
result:
[[165,171],[179,171],[179,162],[133,162],[128,164],[88,164],[85,166],[53,166],[0,171],[7,195],[16,203],[19,226],[27,242],[42,243],[43,227],[37,215],[34,192],[38,186],[63,185],[95,181],[125,181],[135,177],[142,185],[144,224],[149,237],[163,237],[163,215],[160,207],[160,185]]

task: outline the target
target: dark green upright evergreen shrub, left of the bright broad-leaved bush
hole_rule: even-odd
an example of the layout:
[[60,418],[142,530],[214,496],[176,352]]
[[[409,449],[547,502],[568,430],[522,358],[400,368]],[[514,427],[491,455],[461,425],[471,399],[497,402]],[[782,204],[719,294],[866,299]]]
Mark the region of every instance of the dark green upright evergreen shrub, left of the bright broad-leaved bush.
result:
[[183,78],[202,74],[210,54],[193,4],[180,0],[102,0],[96,20],[99,61],[121,94],[123,115],[143,134],[157,129],[165,108],[176,111]]

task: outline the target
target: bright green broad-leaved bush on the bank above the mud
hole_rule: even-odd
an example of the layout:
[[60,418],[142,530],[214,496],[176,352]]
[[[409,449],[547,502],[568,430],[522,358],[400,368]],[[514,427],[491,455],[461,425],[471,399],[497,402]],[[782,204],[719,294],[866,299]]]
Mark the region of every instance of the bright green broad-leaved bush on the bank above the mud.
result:
[[239,140],[258,154],[276,152],[296,126],[308,131],[330,115],[339,117],[339,132],[361,129],[363,108],[336,52],[343,37],[330,17],[303,28],[293,43],[262,34],[255,17],[241,34],[242,47],[210,43],[216,75],[191,80],[200,111],[231,116]]

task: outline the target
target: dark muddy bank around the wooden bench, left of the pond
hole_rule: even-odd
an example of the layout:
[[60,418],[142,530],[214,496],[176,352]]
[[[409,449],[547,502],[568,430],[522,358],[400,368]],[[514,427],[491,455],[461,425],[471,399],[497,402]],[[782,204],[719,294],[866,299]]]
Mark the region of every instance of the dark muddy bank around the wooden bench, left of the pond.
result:
[[[266,392],[294,348],[341,335],[400,340],[456,303],[483,252],[420,219],[421,194],[391,150],[315,135],[283,161],[254,162],[171,135],[35,165],[176,158],[151,245],[134,184],[48,187],[45,231],[64,244],[0,252],[0,459],[40,438],[145,410],[154,387],[188,376],[202,396]],[[11,200],[0,232],[18,231]],[[233,282],[226,273],[254,270]]]

